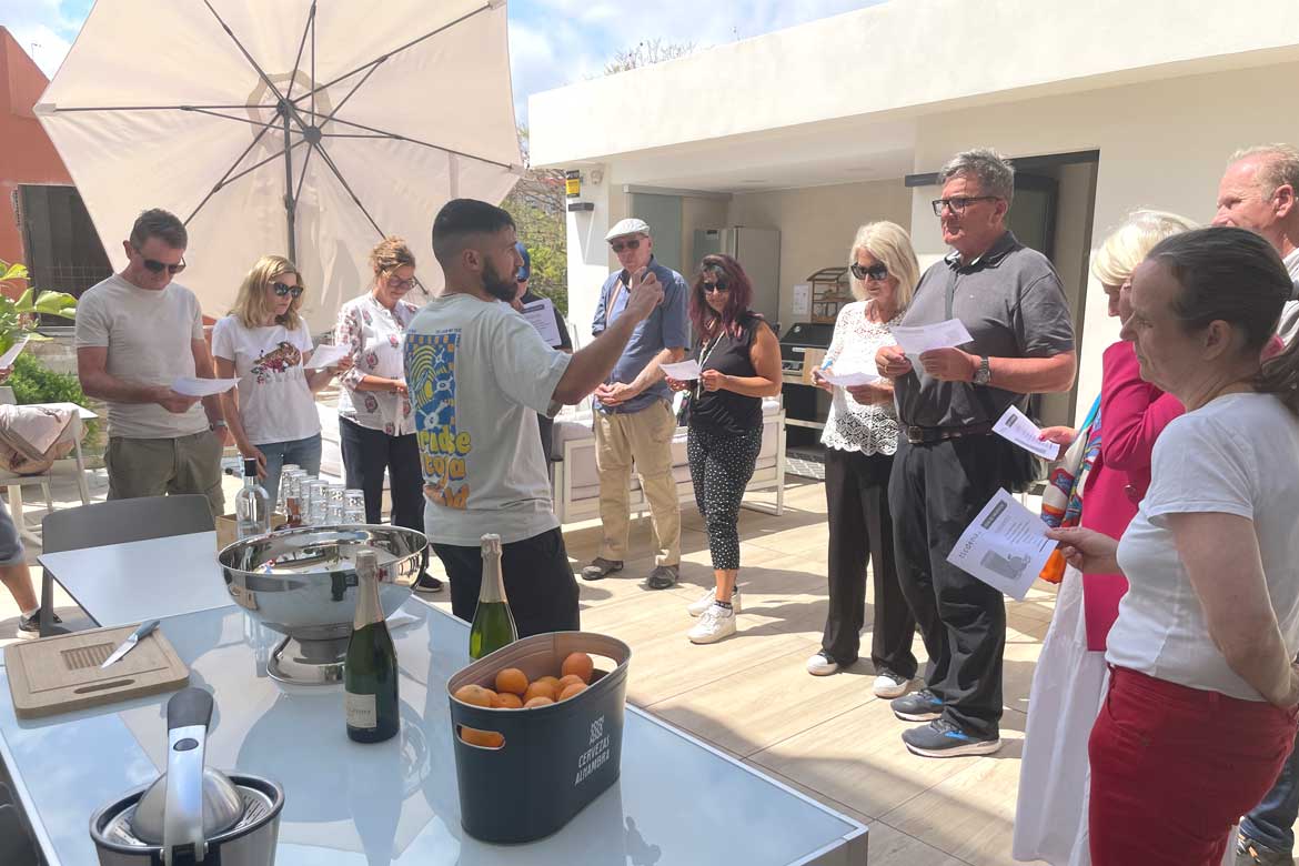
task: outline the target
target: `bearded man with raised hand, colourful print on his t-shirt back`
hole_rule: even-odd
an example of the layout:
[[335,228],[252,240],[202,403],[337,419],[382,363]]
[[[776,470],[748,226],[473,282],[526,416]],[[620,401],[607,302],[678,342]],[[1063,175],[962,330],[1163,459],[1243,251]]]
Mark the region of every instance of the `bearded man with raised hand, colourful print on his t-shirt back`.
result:
[[578,628],[578,589],[536,415],[579,402],[604,382],[635,326],[662,301],[647,275],[626,312],[581,352],[546,344],[516,313],[522,257],[511,216],[456,199],[433,223],[443,293],[407,330],[405,374],[425,476],[425,532],[451,578],[451,608],[472,619],[481,538],[500,535],[505,595],[520,636]]

